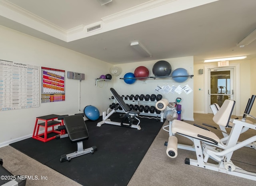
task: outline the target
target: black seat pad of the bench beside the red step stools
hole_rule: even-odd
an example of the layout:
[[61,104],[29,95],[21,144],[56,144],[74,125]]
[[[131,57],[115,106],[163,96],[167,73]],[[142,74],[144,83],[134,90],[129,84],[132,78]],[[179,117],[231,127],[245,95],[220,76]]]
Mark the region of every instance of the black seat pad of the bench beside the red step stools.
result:
[[89,138],[88,130],[82,115],[64,117],[68,136],[72,142],[79,142]]

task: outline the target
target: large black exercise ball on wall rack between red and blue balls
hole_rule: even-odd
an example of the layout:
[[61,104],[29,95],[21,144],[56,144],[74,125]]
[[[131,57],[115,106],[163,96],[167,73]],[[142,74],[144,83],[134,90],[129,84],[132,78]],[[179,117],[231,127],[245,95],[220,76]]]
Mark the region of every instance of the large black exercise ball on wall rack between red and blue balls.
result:
[[167,61],[158,61],[152,68],[155,76],[169,76],[172,72],[172,66]]

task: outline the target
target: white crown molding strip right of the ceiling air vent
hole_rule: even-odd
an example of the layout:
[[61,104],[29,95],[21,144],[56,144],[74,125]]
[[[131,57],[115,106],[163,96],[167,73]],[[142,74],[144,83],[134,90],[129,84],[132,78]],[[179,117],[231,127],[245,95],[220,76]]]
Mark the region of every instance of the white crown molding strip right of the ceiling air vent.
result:
[[140,4],[138,6],[134,6],[132,8],[128,8],[126,10],[123,10],[121,12],[117,12],[115,14],[112,14],[110,16],[106,16],[104,18],[101,18],[103,22],[108,23],[112,22],[114,20],[122,19],[124,17],[133,15],[133,14],[138,14],[139,12],[144,12],[145,10],[149,10],[152,8],[156,8],[158,6],[162,6],[164,4],[173,2],[176,0],[151,0],[148,2],[145,2],[143,4]]

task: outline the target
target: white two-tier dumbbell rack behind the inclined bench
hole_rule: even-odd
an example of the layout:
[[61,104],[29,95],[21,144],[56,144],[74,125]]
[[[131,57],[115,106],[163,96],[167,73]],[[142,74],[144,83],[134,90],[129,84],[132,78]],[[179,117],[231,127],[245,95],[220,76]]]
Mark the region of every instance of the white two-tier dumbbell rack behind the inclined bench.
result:
[[[112,98],[109,98],[109,99],[112,100],[114,103],[117,103],[117,100],[115,98],[112,97]],[[134,100],[134,98],[132,98],[132,100],[128,99],[128,100],[124,100],[124,102],[125,103],[133,103],[133,104],[137,104],[137,105],[139,105],[140,102],[143,102],[143,103],[147,103],[146,105],[150,104],[150,105],[155,106],[157,101],[156,100],[155,101],[150,101],[150,100],[149,101],[145,101],[145,99],[143,99],[143,100]],[[110,108],[108,108],[107,113],[109,113],[109,110],[110,110]],[[165,111],[166,110],[162,110],[160,114],[156,114],[156,112],[154,112],[154,113],[148,112],[147,113],[147,112],[143,111],[143,112],[140,112],[140,115],[142,115],[142,116],[158,117],[158,118],[160,118],[161,122],[164,122]],[[124,113],[124,110],[117,109],[116,112]]]

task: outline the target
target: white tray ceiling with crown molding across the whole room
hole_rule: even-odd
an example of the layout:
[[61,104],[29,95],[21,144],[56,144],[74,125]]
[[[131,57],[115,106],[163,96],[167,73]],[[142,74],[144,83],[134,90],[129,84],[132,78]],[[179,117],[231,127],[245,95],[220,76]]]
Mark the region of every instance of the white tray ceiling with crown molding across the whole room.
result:
[[[0,0],[0,24],[112,64],[256,57],[256,40],[236,46],[256,28],[256,0]],[[133,50],[134,41],[152,57]]]

